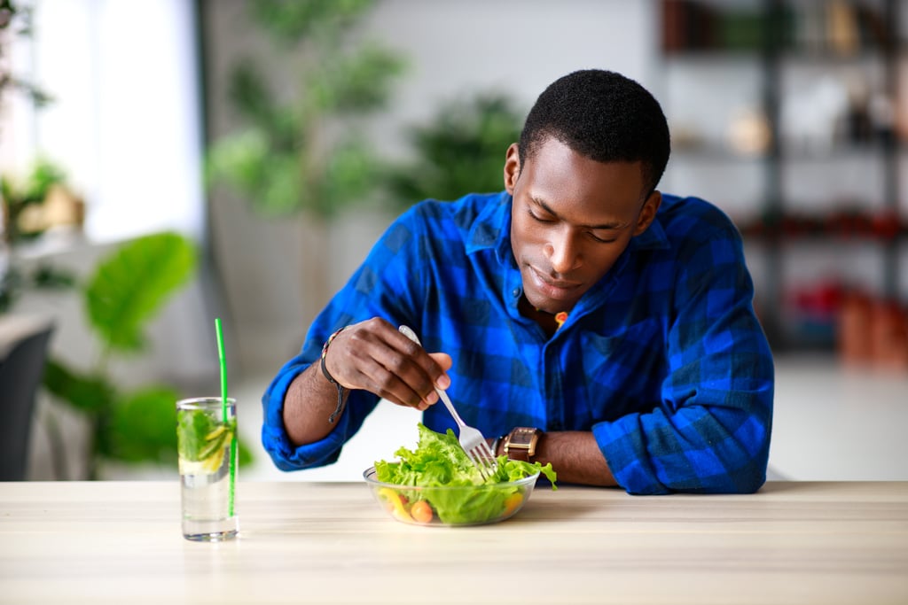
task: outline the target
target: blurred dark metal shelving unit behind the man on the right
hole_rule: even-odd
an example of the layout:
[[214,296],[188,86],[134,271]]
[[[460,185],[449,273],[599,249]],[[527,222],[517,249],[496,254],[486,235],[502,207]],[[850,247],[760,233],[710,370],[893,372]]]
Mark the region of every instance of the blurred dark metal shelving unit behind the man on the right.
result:
[[[785,111],[786,102],[790,101],[792,94],[786,86],[790,88],[793,82],[798,83],[797,76],[792,75],[801,73],[797,70],[827,74],[830,78],[836,77],[837,73],[838,77],[844,77],[840,73],[843,70],[860,73],[862,77],[875,76],[874,85],[879,90],[874,93],[881,94],[881,98],[888,100],[893,109],[898,102],[908,102],[908,99],[899,98],[900,93],[908,90],[908,85],[900,83],[900,77],[908,77],[908,54],[904,52],[903,42],[905,32],[900,31],[905,4],[906,0],[837,3],[664,0],[662,3],[666,81],[671,82],[673,70],[683,70],[687,80],[706,88],[706,95],[733,96],[736,93],[735,83],[728,83],[727,88],[722,89],[724,79],[715,72],[721,74],[721,70],[725,69],[731,75],[737,73],[741,80],[736,82],[736,87],[745,87],[755,93],[753,102],[764,120],[765,144],[758,152],[735,155],[721,144],[716,145],[715,141],[700,148],[682,144],[673,151],[673,163],[683,164],[679,170],[714,172],[716,166],[725,167],[724,170],[729,172],[741,171],[744,161],[758,165],[760,190],[752,193],[751,200],[741,204],[748,211],[725,210],[738,222],[745,235],[748,261],[753,258],[755,265],[758,265],[759,270],[755,271],[758,312],[776,350],[831,349],[835,345],[834,319],[824,319],[832,325],[828,325],[819,337],[799,333],[793,327],[788,308],[792,283],[786,280],[786,274],[803,262],[798,255],[803,254],[804,249],[825,249],[830,256],[838,255],[852,261],[859,253],[867,256],[868,249],[872,247],[879,257],[873,261],[875,266],[856,268],[854,272],[867,280],[871,276],[865,274],[878,275],[873,283],[874,296],[893,300],[904,297],[903,288],[908,284],[901,283],[901,257],[904,244],[908,242],[908,219],[905,216],[908,212],[900,208],[906,183],[900,178],[899,167],[905,154],[905,143],[900,141],[894,124],[888,131],[879,131],[879,125],[872,124],[871,133],[860,141],[839,141],[836,147],[817,153],[799,150],[789,144],[789,133],[785,132]],[[795,39],[794,28],[803,26],[803,20],[808,16],[814,16],[807,15],[808,11],[834,10],[841,13],[824,13],[824,17],[829,19],[828,23],[823,23],[824,26],[847,27],[848,23],[841,19],[850,15],[855,19],[852,23],[854,28],[820,31],[814,27],[809,44],[803,39]],[[839,20],[836,22],[834,18]],[[858,18],[859,22],[856,21]],[[729,31],[723,31],[723,28]],[[733,38],[733,34],[738,37]],[[851,34],[860,35],[860,39],[848,38],[847,35]],[[835,44],[841,46],[845,43],[856,45],[850,46],[848,52],[835,47]],[[753,70],[750,79],[743,75],[748,69]],[[710,86],[716,90],[710,90]],[[683,93],[673,94],[672,91],[664,94],[666,114],[673,128],[677,124],[672,124],[672,104],[678,99],[686,101],[685,96]],[[849,111],[852,109],[849,106]],[[857,116],[854,120],[858,118],[863,119]],[[710,115],[707,119],[715,121],[718,118]],[[707,127],[715,126],[710,122],[704,123]],[[857,123],[849,122],[849,125],[856,128]],[[861,190],[853,200],[848,200],[852,204],[848,211],[827,207],[804,212],[804,207],[810,204],[791,187],[799,173],[826,171],[831,176],[838,176],[836,172],[844,172],[842,166],[849,165],[849,162],[857,167],[852,170],[861,174],[864,174],[862,167],[865,165],[862,162],[873,167],[873,176],[867,177],[868,183],[873,181],[873,188]],[[687,183],[692,180],[679,181],[685,182],[689,189]],[[713,184],[709,179],[704,179],[704,183],[706,189]],[[710,196],[699,190],[683,192],[703,195],[706,199],[719,198],[712,201],[722,207],[721,195]],[[861,214],[853,216],[850,214],[853,210],[859,210]],[[804,216],[809,220],[804,220]],[[854,251],[849,251],[849,247]],[[847,276],[839,275],[838,278],[843,283],[847,282]],[[904,300],[900,302],[905,304]]]

